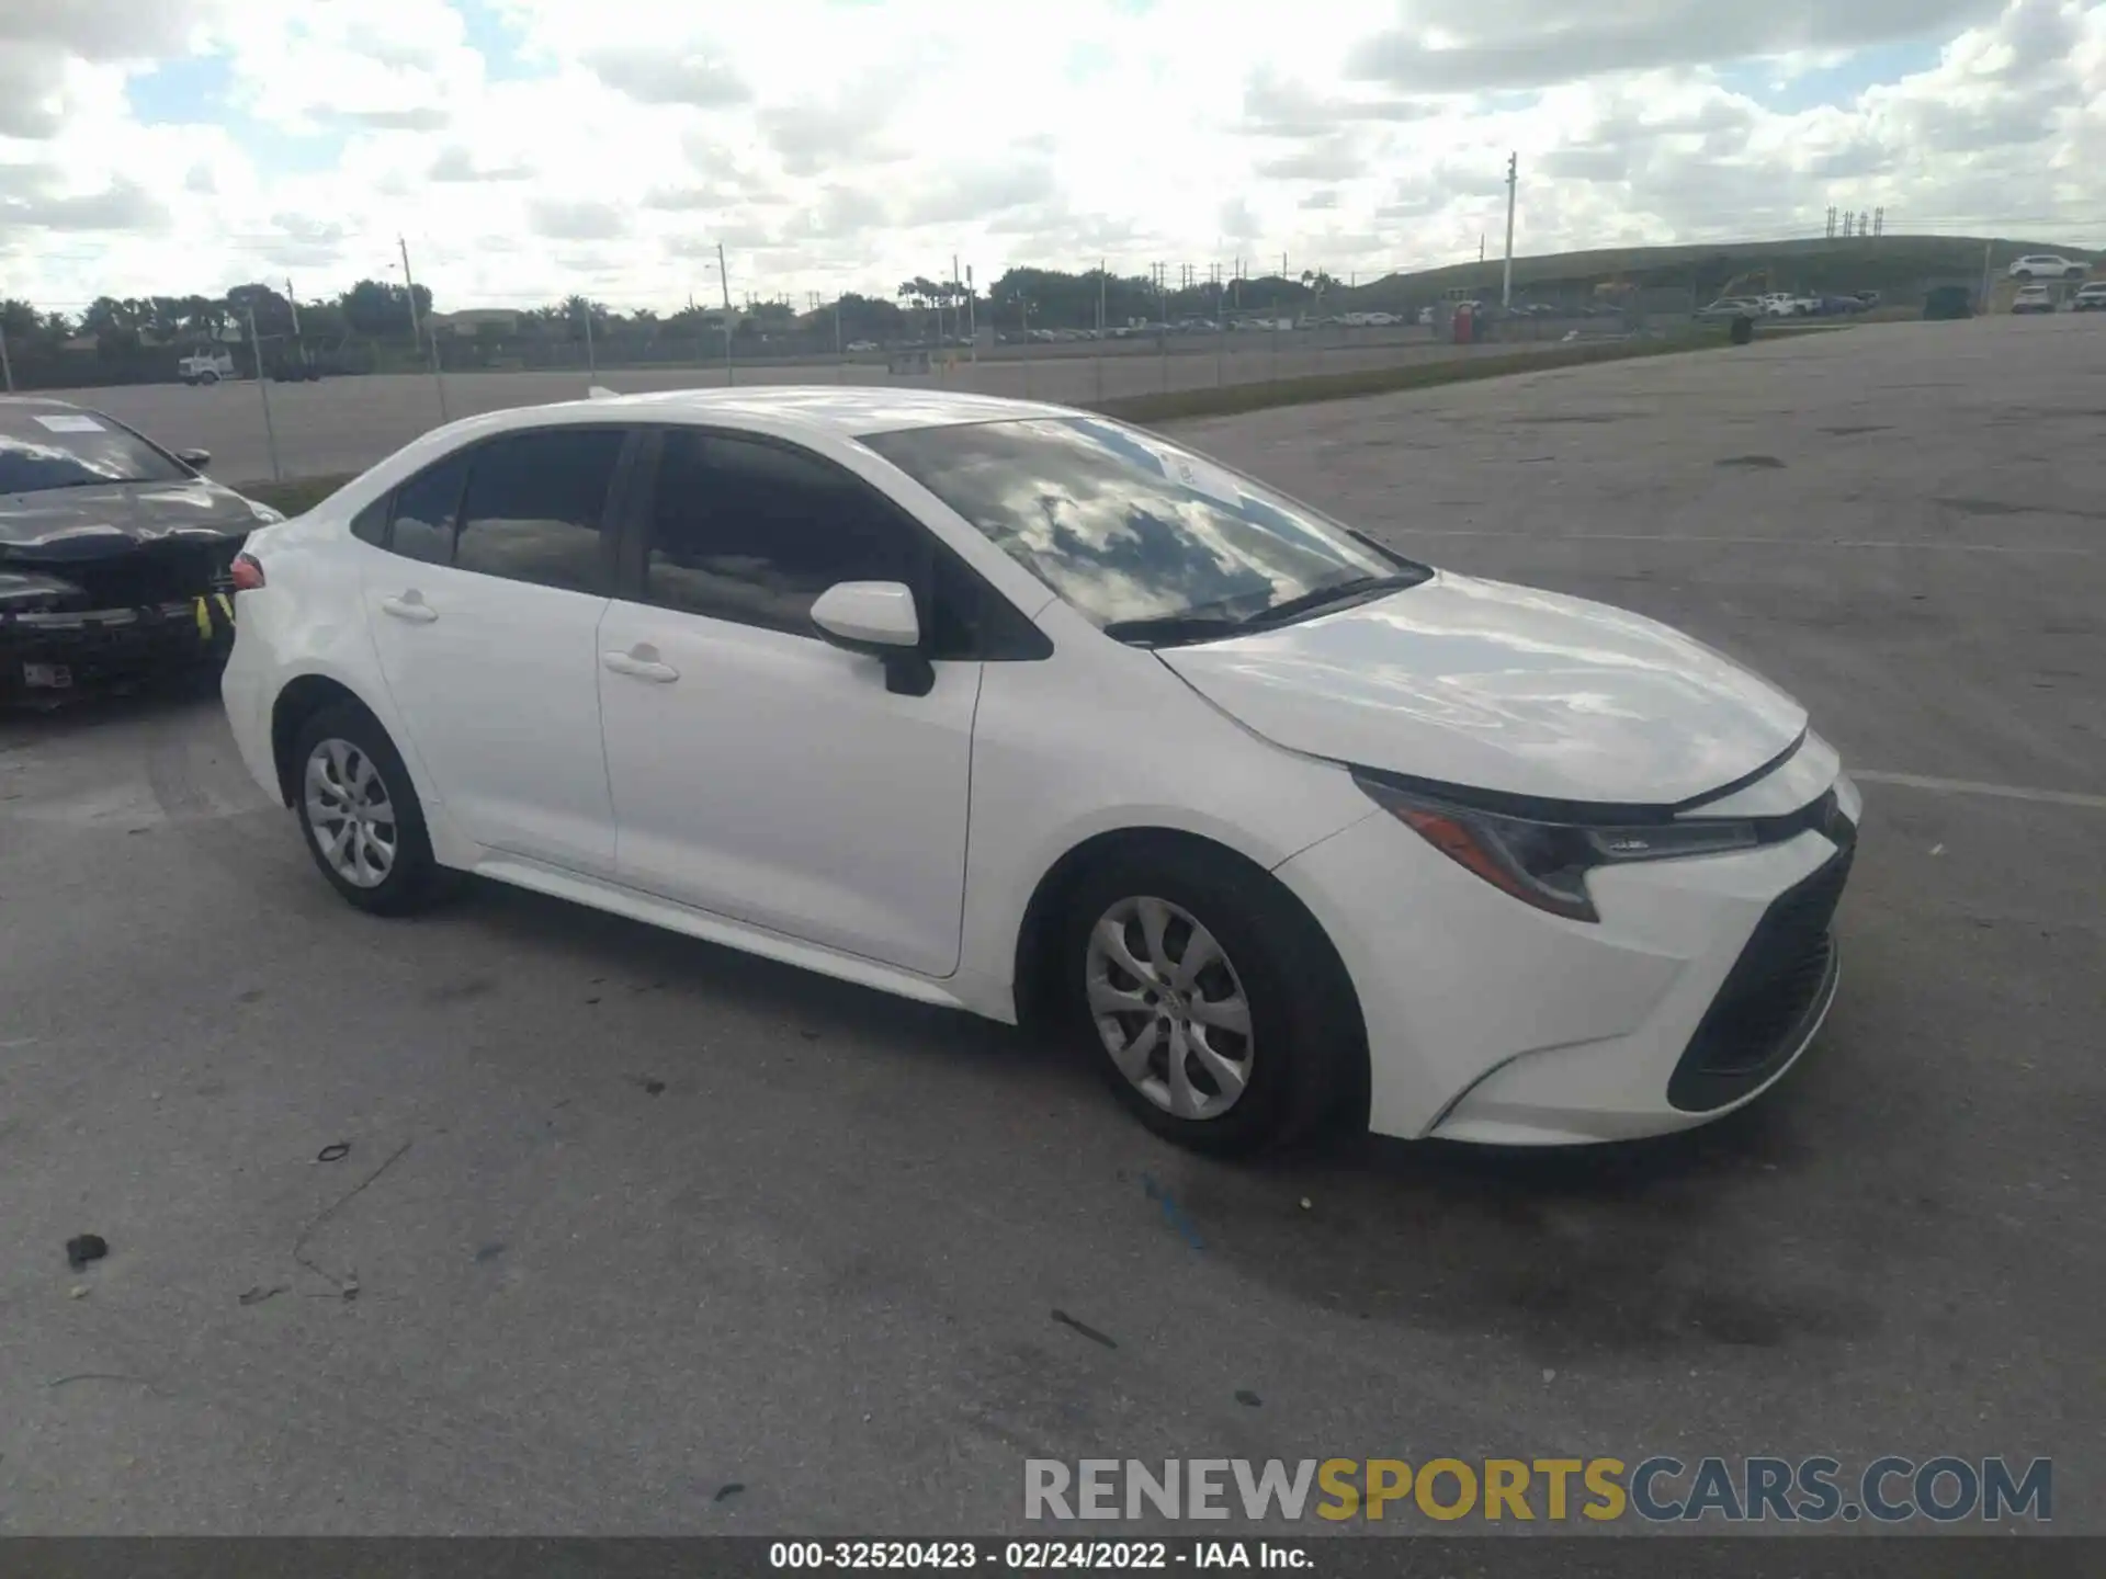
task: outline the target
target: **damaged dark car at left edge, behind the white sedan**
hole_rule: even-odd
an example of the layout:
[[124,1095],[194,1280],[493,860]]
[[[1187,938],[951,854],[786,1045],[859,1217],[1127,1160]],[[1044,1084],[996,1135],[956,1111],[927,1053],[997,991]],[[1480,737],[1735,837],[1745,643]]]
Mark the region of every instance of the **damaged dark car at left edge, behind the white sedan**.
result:
[[63,400],[0,398],[0,703],[217,674],[232,564],[282,520]]

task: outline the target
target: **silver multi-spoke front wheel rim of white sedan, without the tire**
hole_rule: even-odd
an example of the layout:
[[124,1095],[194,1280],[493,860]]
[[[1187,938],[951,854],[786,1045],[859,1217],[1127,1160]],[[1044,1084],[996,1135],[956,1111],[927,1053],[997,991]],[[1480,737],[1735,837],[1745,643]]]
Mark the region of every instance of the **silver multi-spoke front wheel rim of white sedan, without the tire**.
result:
[[1219,939],[1167,899],[1120,899],[1089,933],[1089,1017],[1118,1072],[1175,1118],[1219,1118],[1251,1084],[1251,1002]]

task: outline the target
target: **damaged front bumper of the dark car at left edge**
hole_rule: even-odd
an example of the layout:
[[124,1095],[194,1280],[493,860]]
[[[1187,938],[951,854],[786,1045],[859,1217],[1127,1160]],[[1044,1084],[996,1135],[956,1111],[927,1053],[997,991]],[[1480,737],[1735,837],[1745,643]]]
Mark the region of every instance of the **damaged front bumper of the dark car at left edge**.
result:
[[139,608],[0,613],[0,699],[65,699],[223,663],[234,598],[215,587]]

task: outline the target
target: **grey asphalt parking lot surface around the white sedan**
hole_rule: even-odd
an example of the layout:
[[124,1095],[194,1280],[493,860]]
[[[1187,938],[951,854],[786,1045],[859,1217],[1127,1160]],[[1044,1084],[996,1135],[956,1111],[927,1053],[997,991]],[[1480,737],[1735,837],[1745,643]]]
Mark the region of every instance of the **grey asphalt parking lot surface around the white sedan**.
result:
[[2102,419],[2106,324],[2051,318],[1184,429],[1691,629],[1862,773],[1826,1034],[1664,1143],[1196,1160],[994,1025],[529,895],[358,916],[211,701],[0,722],[0,1531],[994,1533],[1026,1457],[2003,1453],[2106,1533]]

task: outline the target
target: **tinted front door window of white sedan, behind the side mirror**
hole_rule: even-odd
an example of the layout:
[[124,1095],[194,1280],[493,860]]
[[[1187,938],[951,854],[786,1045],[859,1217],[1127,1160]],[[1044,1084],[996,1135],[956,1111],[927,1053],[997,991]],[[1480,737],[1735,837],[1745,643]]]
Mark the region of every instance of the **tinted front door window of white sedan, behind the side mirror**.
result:
[[836,581],[922,581],[925,545],[866,482],[802,451],[665,434],[651,497],[644,600],[811,636]]

